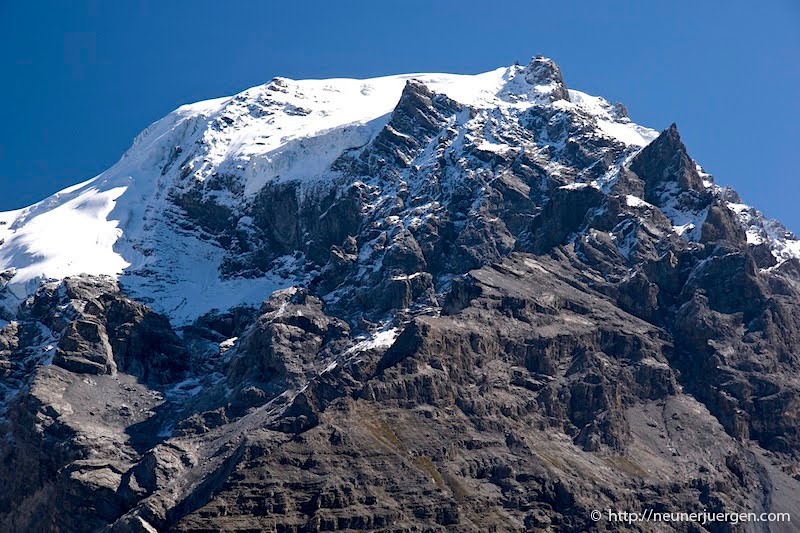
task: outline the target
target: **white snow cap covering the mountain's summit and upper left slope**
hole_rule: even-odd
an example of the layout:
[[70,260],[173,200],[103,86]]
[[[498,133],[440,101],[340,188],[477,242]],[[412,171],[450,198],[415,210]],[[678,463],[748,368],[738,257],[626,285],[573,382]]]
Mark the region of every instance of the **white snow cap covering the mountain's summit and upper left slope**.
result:
[[[444,126],[456,137],[447,149],[456,158],[465,150],[502,154],[516,149],[515,143],[531,142],[529,153],[549,159],[549,171],[562,175],[583,132],[599,142],[589,157],[616,159],[603,170],[613,175],[657,136],[633,123],[620,105],[568,90],[559,67],[541,56],[526,66],[475,75],[274,78],[233,97],[182,106],[145,129],[99,176],[0,214],[0,270],[14,274],[8,288],[22,297],[38,280],[124,274],[129,291],[188,322],[302,282],[307,270],[300,267],[302,254],[281,259],[279,271],[220,275],[228,250],[225,240],[209,232],[228,225],[237,242],[246,240],[254,231],[254,199],[267,185],[300,182],[306,184],[302,194],[321,194],[320,188],[341,179],[334,163],[391,128],[392,112],[411,80],[470,110]],[[536,126],[537,133],[520,134],[545,116],[548,122]],[[612,157],[604,143],[620,147],[624,157]],[[433,152],[425,154],[420,152],[420,168],[433,168]],[[421,179],[407,174],[406,181]],[[428,179],[420,186],[427,187]],[[212,206],[214,214],[208,211]],[[192,220],[193,210],[208,211],[202,223]]]

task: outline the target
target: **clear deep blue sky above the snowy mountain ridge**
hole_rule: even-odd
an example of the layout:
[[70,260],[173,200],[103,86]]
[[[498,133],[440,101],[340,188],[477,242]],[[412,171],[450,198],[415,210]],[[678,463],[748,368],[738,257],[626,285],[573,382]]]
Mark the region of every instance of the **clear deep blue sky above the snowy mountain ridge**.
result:
[[475,73],[542,53],[637,122],[677,122],[719,183],[800,232],[797,0],[122,4],[0,0],[0,210],[98,174],[183,103],[274,76]]

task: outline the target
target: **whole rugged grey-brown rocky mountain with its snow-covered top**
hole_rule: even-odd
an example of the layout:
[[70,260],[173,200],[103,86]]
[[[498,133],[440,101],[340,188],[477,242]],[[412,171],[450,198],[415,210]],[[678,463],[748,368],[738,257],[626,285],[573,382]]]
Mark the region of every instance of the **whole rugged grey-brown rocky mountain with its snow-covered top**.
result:
[[800,517],[798,258],[542,57],[185,106],[0,214],[0,529]]

